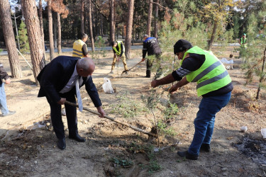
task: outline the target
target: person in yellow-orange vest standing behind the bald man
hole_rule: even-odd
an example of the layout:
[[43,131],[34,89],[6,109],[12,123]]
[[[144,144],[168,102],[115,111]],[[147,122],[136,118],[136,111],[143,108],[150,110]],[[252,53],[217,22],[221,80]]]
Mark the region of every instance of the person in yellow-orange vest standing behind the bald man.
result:
[[86,41],[88,40],[88,35],[85,33],[82,33],[82,38],[80,40],[76,40],[73,43],[73,52],[72,52],[72,57],[88,57],[89,52],[87,50],[87,45]]

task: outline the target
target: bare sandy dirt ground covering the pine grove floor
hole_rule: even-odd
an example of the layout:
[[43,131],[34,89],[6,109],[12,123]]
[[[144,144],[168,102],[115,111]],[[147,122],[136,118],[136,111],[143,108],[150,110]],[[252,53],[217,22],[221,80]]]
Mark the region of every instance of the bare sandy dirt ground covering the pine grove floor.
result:
[[[218,48],[213,52],[219,58],[229,59],[230,52],[219,52]],[[133,50],[128,67],[138,63],[140,56],[140,50]],[[152,79],[143,78],[145,64],[121,75],[123,64],[120,62],[114,74],[108,74],[111,57],[111,52],[107,52],[106,57],[95,59],[93,79],[104,110],[112,118],[150,132],[154,126],[153,115],[138,110],[145,108],[140,96],[150,96]],[[31,60],[29,56],[26,58]],[[1,56],[0,59],[11,74],[8,57]],[[193,120],[201,100],[196,96],[195,84],[188,84],[170,96],[170,101],[179,108],[178,113],[167,121],[175,135],[160,135],[160,148],[157,139],[148,141],[148,135],[84,110],[78,113],[78,128],[87,142],[77,143],[68,138],[63,116],[67,148],[62,151],[56,146],[49,105],[45,98],[37,98],[38,86],[34,84],[33,73],[26,62],[20,60],[24,77],[13,79],[10,85],[6,85],[9,109],[17,113],[0,118],[0,176],[266,176],[266,142],[260,133],[261,128],[266,127],[266,95],[262,91],[260,100],[255,101],[257,84],[245,86],[239,65],[228,70],[234,90],[230,103],[216,115],[211,152],[201,152],[198,161],[191,161],[177,156],[177,151],[187,149],[193,138]],[[234,58],[234,61],[240,63],[240,59]],[[114,94],[106,94],[101,88],[104,77],[111,79]],[[84,107],[96,110],[85,89],[81,91]],[[162,117],[166,108],[167,95],[166,92],[162,94],[161,103],[155,110],[157,119]],[[123,106],[128,105],[127,101],[135,108],[128,118],[123,118],[119,113],[125,113]],[[117,111],[113,111],[114,108]],[[133,117],[133,114],[136,115]],[[38,123],[34,125],[35,122]],[[247,126],[248,131],[240,132],[242,126]],[[241,146],[245,151],[240,151],[238,147]]]

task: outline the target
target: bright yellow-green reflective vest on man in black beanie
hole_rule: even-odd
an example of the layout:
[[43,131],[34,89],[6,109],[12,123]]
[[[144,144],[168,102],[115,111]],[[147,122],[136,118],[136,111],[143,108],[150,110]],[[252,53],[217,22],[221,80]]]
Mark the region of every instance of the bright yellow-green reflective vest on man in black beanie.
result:
[[205,61],[201,67],[187,74],[187,81],[197,83],[196,91],[198,96],[216,91],[231,83],[231,78],[226,68],[212,52],[195,46],[184,53],[182,62],[188,53],[205,55]]

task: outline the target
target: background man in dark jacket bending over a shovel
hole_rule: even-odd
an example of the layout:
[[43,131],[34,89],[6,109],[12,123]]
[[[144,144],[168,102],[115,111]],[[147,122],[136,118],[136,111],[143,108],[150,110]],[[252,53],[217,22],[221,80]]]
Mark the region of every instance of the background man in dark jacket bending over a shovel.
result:
[[[142,62],[145,60],[146,54],[148,52],[148,56],[155,55],[157,62],[160,62],[160,56],[162,54],[162,50],[159,46],[159,43],[156,38],[149,37],[148,35],[143,36],[143,59]],[[153,59],[147,59],[147,69],[146,69],[146,76],[150,77],[151,69],[153,67]]]

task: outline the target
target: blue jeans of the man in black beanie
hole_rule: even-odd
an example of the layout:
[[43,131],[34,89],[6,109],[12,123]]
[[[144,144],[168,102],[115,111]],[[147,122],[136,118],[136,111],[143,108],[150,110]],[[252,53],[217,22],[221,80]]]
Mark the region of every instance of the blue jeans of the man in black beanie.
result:
[[204,97],[199,103],[199,111],[194,120],[195,133],[189,154],[199,155],[201,144],[210,144],[214,132],[215,115],[225,107],[231,98],[231,92],[221,96]]

